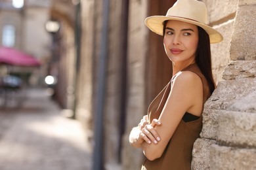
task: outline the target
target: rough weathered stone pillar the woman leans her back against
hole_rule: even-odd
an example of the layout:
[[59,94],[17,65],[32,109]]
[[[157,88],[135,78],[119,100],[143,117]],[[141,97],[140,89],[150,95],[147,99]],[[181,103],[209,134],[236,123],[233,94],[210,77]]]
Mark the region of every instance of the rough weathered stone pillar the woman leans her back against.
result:
[[230,40],[232,61],[205,103],[201,138],[194,144],[194,169],[256,169],[256,2],[237,4]]

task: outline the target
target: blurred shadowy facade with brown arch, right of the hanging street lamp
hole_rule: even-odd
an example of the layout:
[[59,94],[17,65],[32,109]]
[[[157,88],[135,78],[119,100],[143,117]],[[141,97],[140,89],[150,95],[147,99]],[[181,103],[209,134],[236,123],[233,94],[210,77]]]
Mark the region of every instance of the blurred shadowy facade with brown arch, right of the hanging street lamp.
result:
[[74,116],[77,43],[76,6],[72,1],[52,1],[49,21],[59,24],[59,29],[51,31],[52,59],[49,61],[49,75],[57,78],[54,86],[55,99],[66,116]]

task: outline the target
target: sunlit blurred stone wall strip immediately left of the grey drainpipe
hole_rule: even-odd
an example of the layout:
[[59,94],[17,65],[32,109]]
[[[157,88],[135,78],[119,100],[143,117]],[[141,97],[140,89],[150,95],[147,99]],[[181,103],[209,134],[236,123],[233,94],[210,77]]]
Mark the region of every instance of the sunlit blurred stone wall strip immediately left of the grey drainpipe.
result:
[[[95,37],[95,2],[91,0],[81,1],[81,57],[77,72],[77,102],[76,118],[81,122],[85,135],[91,140],[93,137],[93,46]],[[86,22],[85,22],[86,21]]]

